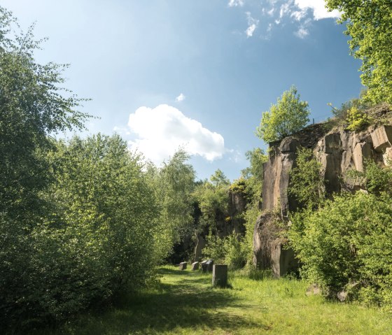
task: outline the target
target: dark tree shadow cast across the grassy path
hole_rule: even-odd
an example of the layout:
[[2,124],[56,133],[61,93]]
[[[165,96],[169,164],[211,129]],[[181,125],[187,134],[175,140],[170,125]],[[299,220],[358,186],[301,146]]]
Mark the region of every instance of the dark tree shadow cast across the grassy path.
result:
[[215,290],[206,285],[211,276],[171,269],[161,269],[160,273],[179,281],[160,283],[154,292],[124,298],[116,309],[80,318],[78,324],[67,326],[62,334],[160,334],[176,332],[177,327],[190,333],[196,328],[235,333],[242,327],[269,329],[267,325],[224,311],[226,307],[241,308],[241,301],[230,290]]

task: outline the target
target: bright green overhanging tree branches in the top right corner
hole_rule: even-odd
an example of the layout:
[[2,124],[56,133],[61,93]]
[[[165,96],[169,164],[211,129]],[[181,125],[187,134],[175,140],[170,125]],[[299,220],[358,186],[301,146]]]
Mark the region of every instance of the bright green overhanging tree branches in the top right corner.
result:
[[392,1],[325,0],[325,4],[342,12],[339,23],[347,22],[351,55],[362,60],[360,78],[368,89],[365,99],[392,104]]

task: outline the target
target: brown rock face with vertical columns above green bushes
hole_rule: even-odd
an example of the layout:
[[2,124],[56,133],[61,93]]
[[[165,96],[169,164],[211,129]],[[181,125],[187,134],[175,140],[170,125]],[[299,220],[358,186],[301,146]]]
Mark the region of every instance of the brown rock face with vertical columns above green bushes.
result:
[[[343,128],[325,131],[323,124],[315,124],[303,129],[295,136],[283,138],[279,143],[270,143],[269,160],[264,164],[264,184],[262,189],[262,209],[280,213],[281,219],[287,218],[288,211],[297,209],[297,201],[288,194],[290,185],[290,169],[295,166],[297,148],[311,148],[318,162],[321,163],[327,194],[340,190],[359,190],[362,185],[355,181],[344,181],[342,178],[349,170],[363,171],[366,159],[374,159],[379,164],[390,164],[392,160],[392,127],[384,125],[371,126],[358,133]],[[276,242],[274,255],[262,255],[260,246],[268,241],[262,241],[260,227],[269,220],[268,215],[258,218],[253,234],[254,263],[258,268],[265,269],[269,264],[278,264],[280,273],[282,260],[277,262],[279,243]],[[271,252],[274,248],[271,248]],[[286,264],[288,250],[282,252]],[[274,261],[272,262],[272,259]],[[289,266],[290,267],[290,266]],[[276,267],[277,269],[277,267]]]

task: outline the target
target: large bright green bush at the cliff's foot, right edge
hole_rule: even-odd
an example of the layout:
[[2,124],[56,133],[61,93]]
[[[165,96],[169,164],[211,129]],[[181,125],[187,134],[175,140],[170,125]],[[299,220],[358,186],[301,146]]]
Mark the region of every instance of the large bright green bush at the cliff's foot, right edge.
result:
[[343,194],[292,219],[290,238],[303,273],[324,294],[351,287],[360,301],[392,306],[391,204],[386,194]]

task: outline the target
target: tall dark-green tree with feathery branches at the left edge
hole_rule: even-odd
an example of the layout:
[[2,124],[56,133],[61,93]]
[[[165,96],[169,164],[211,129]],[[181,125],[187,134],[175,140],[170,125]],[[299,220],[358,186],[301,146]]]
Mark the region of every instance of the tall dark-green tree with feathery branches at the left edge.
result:
[[[61,87],[66,66],[38,64],[33,27],[13,35],[13,15],[0,6],[0,212],[25,216],[48,184],[48,135],[80,129],[87,117],[80,100]],[[20,218],[20,217],[19,217]]]

